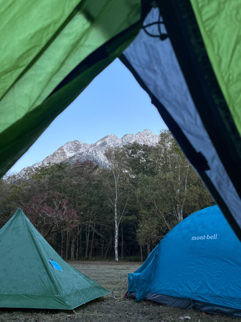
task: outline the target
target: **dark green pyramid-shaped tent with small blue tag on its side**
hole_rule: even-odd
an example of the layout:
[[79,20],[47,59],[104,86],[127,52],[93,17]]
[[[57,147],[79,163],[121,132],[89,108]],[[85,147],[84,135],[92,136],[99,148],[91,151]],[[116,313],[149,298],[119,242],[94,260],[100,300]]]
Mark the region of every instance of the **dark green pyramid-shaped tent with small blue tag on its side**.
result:
[[73,309],[109,291],[67,264],[18,208],[0,230],[0,307]]

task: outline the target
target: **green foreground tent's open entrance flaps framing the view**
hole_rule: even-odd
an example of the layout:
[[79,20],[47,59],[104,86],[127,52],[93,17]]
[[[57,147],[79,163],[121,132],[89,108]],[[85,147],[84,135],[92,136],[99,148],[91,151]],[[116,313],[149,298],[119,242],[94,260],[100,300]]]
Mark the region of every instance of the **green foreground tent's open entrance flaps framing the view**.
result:
[[0,175],[120,57],[241,239],[240,10],[223,0],[2,1]]

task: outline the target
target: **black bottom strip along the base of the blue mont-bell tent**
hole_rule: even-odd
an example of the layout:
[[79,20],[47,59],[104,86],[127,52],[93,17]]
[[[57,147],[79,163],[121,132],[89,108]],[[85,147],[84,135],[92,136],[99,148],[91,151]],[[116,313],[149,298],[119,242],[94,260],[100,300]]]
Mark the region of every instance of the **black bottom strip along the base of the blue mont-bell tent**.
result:
[[[128,297],[136,300],[136,292],[129,292]],[[144,298],[144,300],[151,300],[158,304],[168,305],[173,308],[181,308],[183,310],[198,310],[213,314],[226,315],[229,317],[241,317],[241,309],[228,308],[227,306],[211,304],[188,298],[178,298],[169,295],[147,293],[147,296]]]

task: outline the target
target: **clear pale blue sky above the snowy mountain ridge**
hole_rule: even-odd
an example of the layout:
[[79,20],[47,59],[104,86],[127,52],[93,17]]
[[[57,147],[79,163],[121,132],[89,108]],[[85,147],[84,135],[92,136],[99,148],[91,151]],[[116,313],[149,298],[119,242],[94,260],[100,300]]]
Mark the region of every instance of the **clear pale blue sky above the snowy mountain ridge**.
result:
[[108,134],[122,137],[145,128],[158,134],[165,123],[129,70],[116,59],[65,109],[11,172],[43,160],[68,141],[94,143]]

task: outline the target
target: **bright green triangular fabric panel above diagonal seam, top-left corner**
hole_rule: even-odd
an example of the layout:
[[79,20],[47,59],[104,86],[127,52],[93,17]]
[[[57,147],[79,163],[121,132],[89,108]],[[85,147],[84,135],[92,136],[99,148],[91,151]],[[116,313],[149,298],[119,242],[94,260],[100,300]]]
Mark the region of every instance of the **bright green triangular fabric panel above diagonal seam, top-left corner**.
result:
[[0,65],[4,67],[0,74],[0,98],[58,31],[78,3],[79,0],[10,0],[1,3],[1,44],[6,50],[0,57]]

